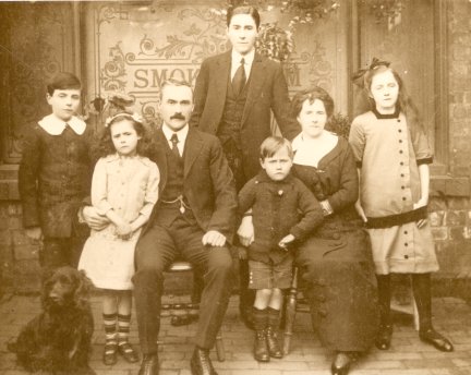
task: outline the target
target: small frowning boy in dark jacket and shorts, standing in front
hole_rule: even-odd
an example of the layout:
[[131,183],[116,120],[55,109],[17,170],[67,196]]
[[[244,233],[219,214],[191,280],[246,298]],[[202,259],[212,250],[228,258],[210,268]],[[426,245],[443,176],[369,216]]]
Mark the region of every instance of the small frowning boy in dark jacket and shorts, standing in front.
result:
[[[293,152],[288,140],[266,138],[261,145],[263,170],[239,193],[242,215],[253,216],[254,242],[249,246],[249,288],[255,289],[254,356],[281,358],[277,339],[282,289],[291,285],[293,245],[323,220],[311,191],[290,174]],[[250,213],[250,214],[247,214]]]

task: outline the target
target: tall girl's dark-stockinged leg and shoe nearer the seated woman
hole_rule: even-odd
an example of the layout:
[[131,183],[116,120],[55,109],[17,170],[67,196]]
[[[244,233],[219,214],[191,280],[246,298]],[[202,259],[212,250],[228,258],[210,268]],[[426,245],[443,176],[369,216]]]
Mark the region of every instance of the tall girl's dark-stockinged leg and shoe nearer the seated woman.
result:
[[392,336],[392,322],[390,318],[390,276],[376,275],[379,300],[379,330],[375,346],[381,350],[388,350]]

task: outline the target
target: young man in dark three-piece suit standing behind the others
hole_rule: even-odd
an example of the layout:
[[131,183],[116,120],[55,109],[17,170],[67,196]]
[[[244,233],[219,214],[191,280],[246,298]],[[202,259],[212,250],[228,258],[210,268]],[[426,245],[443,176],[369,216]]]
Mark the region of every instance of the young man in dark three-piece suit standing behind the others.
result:
[[[258,150],[271,135],[271,111],[286,138],[300,132],[295,119],[289,116],[290,99],[281,65],[255,50],[259,23],[258,11],[253,7],[228,10],[227,35],[232,49],[203,61],[190,121],[219,137],[238,191],[259,170]],[[241,262],[244,318],[253,304],[253,294],[246,293],[247,279],[246,262]]]

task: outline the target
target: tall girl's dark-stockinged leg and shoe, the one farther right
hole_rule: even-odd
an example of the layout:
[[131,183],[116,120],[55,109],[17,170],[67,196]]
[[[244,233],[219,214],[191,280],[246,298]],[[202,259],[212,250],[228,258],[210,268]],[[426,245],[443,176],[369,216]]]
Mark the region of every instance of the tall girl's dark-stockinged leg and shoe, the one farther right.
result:
[[434,346],[440,351],[454,351],[454,346],[451,342],[446,337],[438,334],[432,326],[432,295],[430,274],[413,274],[412,289],[419,311],[420,339]]

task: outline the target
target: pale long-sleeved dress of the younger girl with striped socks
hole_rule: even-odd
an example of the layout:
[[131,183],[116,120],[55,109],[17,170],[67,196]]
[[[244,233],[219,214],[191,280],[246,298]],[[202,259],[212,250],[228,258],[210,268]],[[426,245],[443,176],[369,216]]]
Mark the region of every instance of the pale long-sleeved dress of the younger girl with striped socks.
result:
[[[159,170],[146,157],[109,155],[98,160],[92,181],[92,205],[98,214],[113,209],[119,216],[135,220],[149,217],[158,198]],[[116,226],[92,230],[78,263],[95,287],[130,290],[134,274],[134,250],[141,230],[130,240],[116,235]]]

